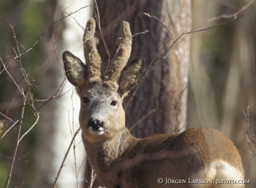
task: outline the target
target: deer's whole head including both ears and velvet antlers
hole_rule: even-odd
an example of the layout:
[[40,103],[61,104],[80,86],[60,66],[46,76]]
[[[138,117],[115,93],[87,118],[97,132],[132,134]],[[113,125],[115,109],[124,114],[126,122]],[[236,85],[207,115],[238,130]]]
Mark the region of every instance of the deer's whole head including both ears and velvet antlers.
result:
[[93,37],[93,18],[87,22],[83,37],[86,65],[71,52],[63,53],[66,76],[81,98],[82,135],[89,142],[109,140],[124,130],[122,100],[137,85],[142,72],[142,57],[127,63],[131,53],[129,23],[122,23],[121,32],[122,38],[116,42],[119,48],[105,74],[96,48],[98,40]]

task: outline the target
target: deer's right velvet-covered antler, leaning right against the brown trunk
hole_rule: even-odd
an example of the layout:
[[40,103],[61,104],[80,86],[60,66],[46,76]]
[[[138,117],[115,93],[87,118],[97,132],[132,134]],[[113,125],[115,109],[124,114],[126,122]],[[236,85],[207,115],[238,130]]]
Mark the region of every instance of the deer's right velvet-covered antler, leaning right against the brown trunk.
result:
[[[122,22],[121,26],[122,37],[117,39],[116,44],[119,46],[116,50],[116,54],[111,61],[110,66],[104,76],[104,82],[114,82],[117,83],[120,77],[122,69],[127,64],[127,61],[131,54],[131,31],[128,22]],[[115,84],[117,87],[117,84]],[[117,89],[116,88],[116,89]]]

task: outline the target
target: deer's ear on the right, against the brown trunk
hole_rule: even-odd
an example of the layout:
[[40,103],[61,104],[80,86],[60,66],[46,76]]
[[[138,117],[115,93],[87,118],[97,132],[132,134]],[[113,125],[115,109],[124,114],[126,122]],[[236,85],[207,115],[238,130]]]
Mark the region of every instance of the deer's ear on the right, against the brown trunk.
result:
[[139,82],[141,72],[144,66],[144,58],[137,57],[134,61],[128,63],[121,72],[119,79],[119,93],[121,97],[128,95]]

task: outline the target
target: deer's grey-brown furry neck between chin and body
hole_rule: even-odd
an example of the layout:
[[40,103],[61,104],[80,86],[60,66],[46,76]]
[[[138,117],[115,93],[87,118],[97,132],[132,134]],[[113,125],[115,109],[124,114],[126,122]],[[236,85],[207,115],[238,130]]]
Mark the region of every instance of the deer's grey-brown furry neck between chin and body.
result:
[[83,144],[92,169],[100,175],[118,168],[127,148],[138,140],[140,139],[132,136],[125,127],[122,133],[107,141],[90,143],[83,137]]

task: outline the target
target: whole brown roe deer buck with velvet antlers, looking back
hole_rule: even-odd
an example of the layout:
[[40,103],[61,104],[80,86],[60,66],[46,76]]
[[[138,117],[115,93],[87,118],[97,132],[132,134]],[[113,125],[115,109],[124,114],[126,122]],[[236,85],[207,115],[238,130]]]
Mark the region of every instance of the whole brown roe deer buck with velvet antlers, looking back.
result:
[[[91,18],[83,36],[86,65],[68,51],[63,53],[63,63],[67,79],[81,98],[82,140],[88,161],[102,184],[106,187],[166,187],[166,183],[170,187],[244,187],[217,182],[244,179],[238,150],[217,130],[190,128],[178,135],[142,139],[130,134],[125,127],[122,100],[139,81],[144,59],[138,57],[126,65],[131,53],[131,32],[129,23],[122,22],[122,37],[116,42],[119,47],[104,73],[94,33],[95,20]],[[162,184],[159,178],[163,179]]]

